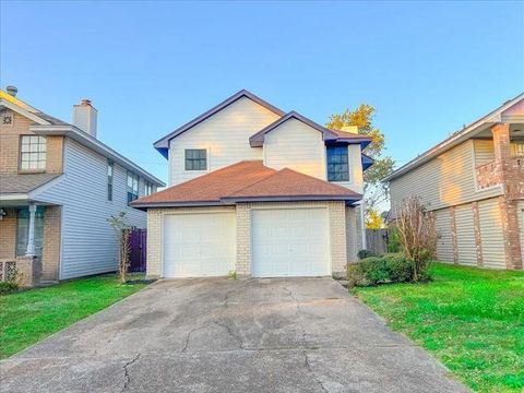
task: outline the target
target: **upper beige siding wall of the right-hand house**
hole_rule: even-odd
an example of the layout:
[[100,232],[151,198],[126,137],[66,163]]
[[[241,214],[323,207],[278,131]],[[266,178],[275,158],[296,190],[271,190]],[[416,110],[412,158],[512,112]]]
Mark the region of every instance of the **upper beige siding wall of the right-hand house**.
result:
[[[410,195],[420,196],[430,210],[449,207],[502,193],[501,188],[476,189],[473,140],[391,181],[392,206]],[[393,207],[394,209],[394,207]]]

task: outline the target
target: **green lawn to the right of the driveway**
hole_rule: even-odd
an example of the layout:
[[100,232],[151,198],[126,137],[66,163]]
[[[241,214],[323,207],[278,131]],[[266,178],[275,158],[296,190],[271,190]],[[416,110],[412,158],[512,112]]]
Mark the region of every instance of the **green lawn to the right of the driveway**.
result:
[[431,270],[429,284],[354,291],[473,390],[524,392],[524,272]]

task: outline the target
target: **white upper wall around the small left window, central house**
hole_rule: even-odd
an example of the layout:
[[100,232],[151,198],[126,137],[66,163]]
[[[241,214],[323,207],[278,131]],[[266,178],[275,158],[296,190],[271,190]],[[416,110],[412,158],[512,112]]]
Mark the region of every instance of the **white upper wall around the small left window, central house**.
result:
[[[170,142],[169,182],[175,186],[245,159],[262,159],[262,147],[249,138],[277,120],[278,115],[243,97]],[[186,148],[207,148],[207,170],[184,170]]]

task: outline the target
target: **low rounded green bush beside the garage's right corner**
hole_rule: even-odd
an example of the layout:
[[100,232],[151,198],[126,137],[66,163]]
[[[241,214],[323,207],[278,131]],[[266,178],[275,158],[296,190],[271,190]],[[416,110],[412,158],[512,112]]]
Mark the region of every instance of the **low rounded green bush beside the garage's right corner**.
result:
[[[349,286],[370,286],[384,283],[409,283],[415,281],[414,263],[403,254],[371,257],[348,267]],[[418,281],[430,279],[429,273]]]

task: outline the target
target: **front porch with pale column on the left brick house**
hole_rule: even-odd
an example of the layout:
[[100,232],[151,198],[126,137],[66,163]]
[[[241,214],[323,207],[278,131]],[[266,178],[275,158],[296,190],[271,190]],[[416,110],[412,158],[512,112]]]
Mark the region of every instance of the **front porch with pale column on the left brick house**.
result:
[[57,282],[61,206],[2,202],[0,281],[14,279],[24,287]]

